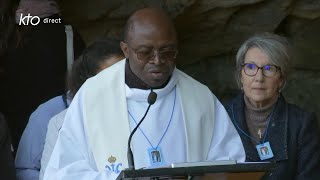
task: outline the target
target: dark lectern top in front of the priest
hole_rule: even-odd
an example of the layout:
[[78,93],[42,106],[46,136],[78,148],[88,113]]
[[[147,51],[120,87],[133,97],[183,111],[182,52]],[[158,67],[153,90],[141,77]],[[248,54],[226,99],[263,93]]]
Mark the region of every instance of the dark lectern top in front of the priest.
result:
[[132,179],[196,179],[241,180],[261,179],[263,175],[274,169],[274,163],[237,163],[227,165],[191,166],[177,168],[158,168],[123,170],[117,180]]

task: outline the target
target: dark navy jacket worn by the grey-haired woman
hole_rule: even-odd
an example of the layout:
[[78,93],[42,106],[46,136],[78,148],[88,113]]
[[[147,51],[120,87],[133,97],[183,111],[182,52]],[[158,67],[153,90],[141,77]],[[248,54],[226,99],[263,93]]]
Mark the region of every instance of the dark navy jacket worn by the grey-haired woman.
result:
[[[226,107],[246,152],[246,161],[261,161],[249,134],[244,114],[243,93]],[[241,129],[241,130],[240,130]],[[276,167],[266,179],[320,179],[320,130],[314,113],[288,104],[281,95],[276,103],[266,136]]]

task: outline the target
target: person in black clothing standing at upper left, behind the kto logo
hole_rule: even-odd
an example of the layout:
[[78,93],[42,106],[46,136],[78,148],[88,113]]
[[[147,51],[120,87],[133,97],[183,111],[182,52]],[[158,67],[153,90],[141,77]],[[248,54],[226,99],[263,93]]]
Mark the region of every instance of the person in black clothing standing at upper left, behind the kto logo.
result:
[[[5,92],[2,107],[12,129],[15,149],[28,117],[37,106],[65,92],[67,72],[66,23],[56,3],[53,0],[21,0],[16,13],[19,36],[11,38],[3,55]],[[21,24],[19,18],[28,13],[40,17],[39,24]],[[60,21],[44,23],[46,18]],[[85,44],[76,31],[73,45],[74,58],[77,58]]]

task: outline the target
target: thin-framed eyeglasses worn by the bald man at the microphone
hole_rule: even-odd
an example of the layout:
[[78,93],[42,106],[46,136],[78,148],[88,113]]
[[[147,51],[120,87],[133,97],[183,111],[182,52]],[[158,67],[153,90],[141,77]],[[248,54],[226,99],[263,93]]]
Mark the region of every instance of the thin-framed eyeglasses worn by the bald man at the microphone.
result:
[[178,55],[178,50],[176,49],[164,49],[164,50],[156,50],[156,49],[150,49],[150,50],[136,50],[133,49],[132,47],[128,46],[131,48],[134,53],[136,53],[137,58],[141,61],[151,61],[156,57],[156,53],[158,55],[159,59],[162,60],[170,60],[173,61],[176,59]]

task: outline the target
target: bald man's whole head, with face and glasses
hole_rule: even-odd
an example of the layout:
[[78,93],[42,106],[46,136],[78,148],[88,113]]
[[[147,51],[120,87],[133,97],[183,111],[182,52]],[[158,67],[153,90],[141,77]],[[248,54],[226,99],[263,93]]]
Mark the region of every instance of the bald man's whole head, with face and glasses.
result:
[[130,16],[121,49],[132,72],[152,88],[168,82],[178,53],[171,19],[161,10],[145,8]]

